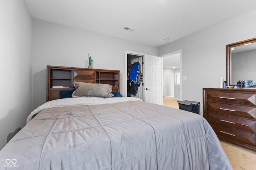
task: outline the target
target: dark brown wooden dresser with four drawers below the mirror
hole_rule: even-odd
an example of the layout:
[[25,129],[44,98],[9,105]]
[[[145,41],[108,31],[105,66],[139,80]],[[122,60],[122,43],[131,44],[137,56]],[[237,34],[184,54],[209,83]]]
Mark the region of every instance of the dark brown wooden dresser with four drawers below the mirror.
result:
[[220,140],[256,151],[256,89],[203,88],[203,116]]

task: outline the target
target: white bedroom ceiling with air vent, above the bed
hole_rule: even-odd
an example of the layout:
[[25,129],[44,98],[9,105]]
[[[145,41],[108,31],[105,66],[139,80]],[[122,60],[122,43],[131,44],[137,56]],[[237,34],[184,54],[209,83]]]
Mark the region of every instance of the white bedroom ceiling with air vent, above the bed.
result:
[[32,18],[156,47],[256,9],[256,0],[24,1]]

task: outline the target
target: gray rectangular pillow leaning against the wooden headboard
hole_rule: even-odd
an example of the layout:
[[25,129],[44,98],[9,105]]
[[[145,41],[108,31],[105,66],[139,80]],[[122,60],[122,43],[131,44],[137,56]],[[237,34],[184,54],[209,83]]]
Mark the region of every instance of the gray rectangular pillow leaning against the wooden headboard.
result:
[[72,97],[98,97],[111,98],[112,86],[110,84],[74,82],[76,90]]

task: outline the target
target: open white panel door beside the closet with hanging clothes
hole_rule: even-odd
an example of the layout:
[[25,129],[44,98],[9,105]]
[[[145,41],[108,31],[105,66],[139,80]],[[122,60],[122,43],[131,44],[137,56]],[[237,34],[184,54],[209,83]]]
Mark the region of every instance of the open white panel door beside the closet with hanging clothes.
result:
[[144,57],[144,101],[162,105],[162,57]]

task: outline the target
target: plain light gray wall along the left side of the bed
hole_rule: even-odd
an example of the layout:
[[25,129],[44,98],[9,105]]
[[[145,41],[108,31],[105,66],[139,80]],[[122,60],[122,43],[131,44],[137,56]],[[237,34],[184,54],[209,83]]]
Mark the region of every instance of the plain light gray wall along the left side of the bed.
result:
[[32,18],[23,0],[0,1],[0,149],[32,109]]

